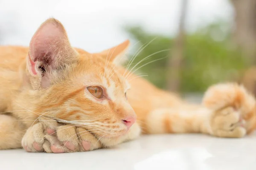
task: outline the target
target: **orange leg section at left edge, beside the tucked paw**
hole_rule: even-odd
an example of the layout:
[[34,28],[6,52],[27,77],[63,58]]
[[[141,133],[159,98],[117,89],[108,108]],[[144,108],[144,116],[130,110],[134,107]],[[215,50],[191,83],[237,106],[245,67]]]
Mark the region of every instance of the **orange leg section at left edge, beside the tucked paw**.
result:
[[0,150],[21,148],[21,139],[26,128],[9,115],[0,115]]

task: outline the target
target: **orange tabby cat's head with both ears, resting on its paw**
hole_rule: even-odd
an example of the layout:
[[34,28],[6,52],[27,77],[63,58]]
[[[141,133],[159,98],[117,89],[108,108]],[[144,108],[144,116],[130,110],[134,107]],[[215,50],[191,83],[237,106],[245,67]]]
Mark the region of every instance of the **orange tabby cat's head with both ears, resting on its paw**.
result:
[[99,136],[126,133],[136,120],[126,97],[129,84],[118,65],[128,45],[125,41],[90,54],[71,47],[58,20],[47,20],[29,45],[26,79],[38,100],[32,108]]

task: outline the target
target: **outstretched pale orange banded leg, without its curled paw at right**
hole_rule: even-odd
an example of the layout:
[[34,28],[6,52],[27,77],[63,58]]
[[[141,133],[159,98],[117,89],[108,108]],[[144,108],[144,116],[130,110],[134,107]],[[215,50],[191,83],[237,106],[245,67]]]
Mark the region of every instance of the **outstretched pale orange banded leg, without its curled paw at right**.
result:
[[142,123],[147,134],[209,133],[212,111],[201,105],[159,108],[151,111]]

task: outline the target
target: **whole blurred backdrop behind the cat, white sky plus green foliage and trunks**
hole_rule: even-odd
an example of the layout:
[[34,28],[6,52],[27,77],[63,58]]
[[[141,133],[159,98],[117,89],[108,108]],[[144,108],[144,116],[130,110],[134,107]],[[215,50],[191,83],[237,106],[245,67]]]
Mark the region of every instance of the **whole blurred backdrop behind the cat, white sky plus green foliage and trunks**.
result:
[[29,45],[55,17],[91,53],[132,40],[128,69],[159,88],[202,94],[232,81],[256,94],[256,0],[14,1],[0,0],[0,45]]

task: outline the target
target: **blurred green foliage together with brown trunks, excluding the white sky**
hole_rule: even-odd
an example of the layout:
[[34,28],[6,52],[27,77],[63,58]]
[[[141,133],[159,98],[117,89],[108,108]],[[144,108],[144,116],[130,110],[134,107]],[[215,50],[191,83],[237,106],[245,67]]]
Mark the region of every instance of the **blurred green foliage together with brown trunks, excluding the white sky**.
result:
[[243,83],[244,74],[253,66],[256,57],[256,24],[252,24],[256,23],[253,17],[256,16],[255,2],[230,0],[235,11],[233,20],[219,20],[188,32],[187,0],[183,0],[176,37],[152,34],[143,26],[125,26],[135,44],[130,54],[134,64],[128,69],[144,59],[132,71],[148,63],[135,72],[143,76],[148,74],[145,79],[159,88],[182,94],[202,93],[218,82]]

